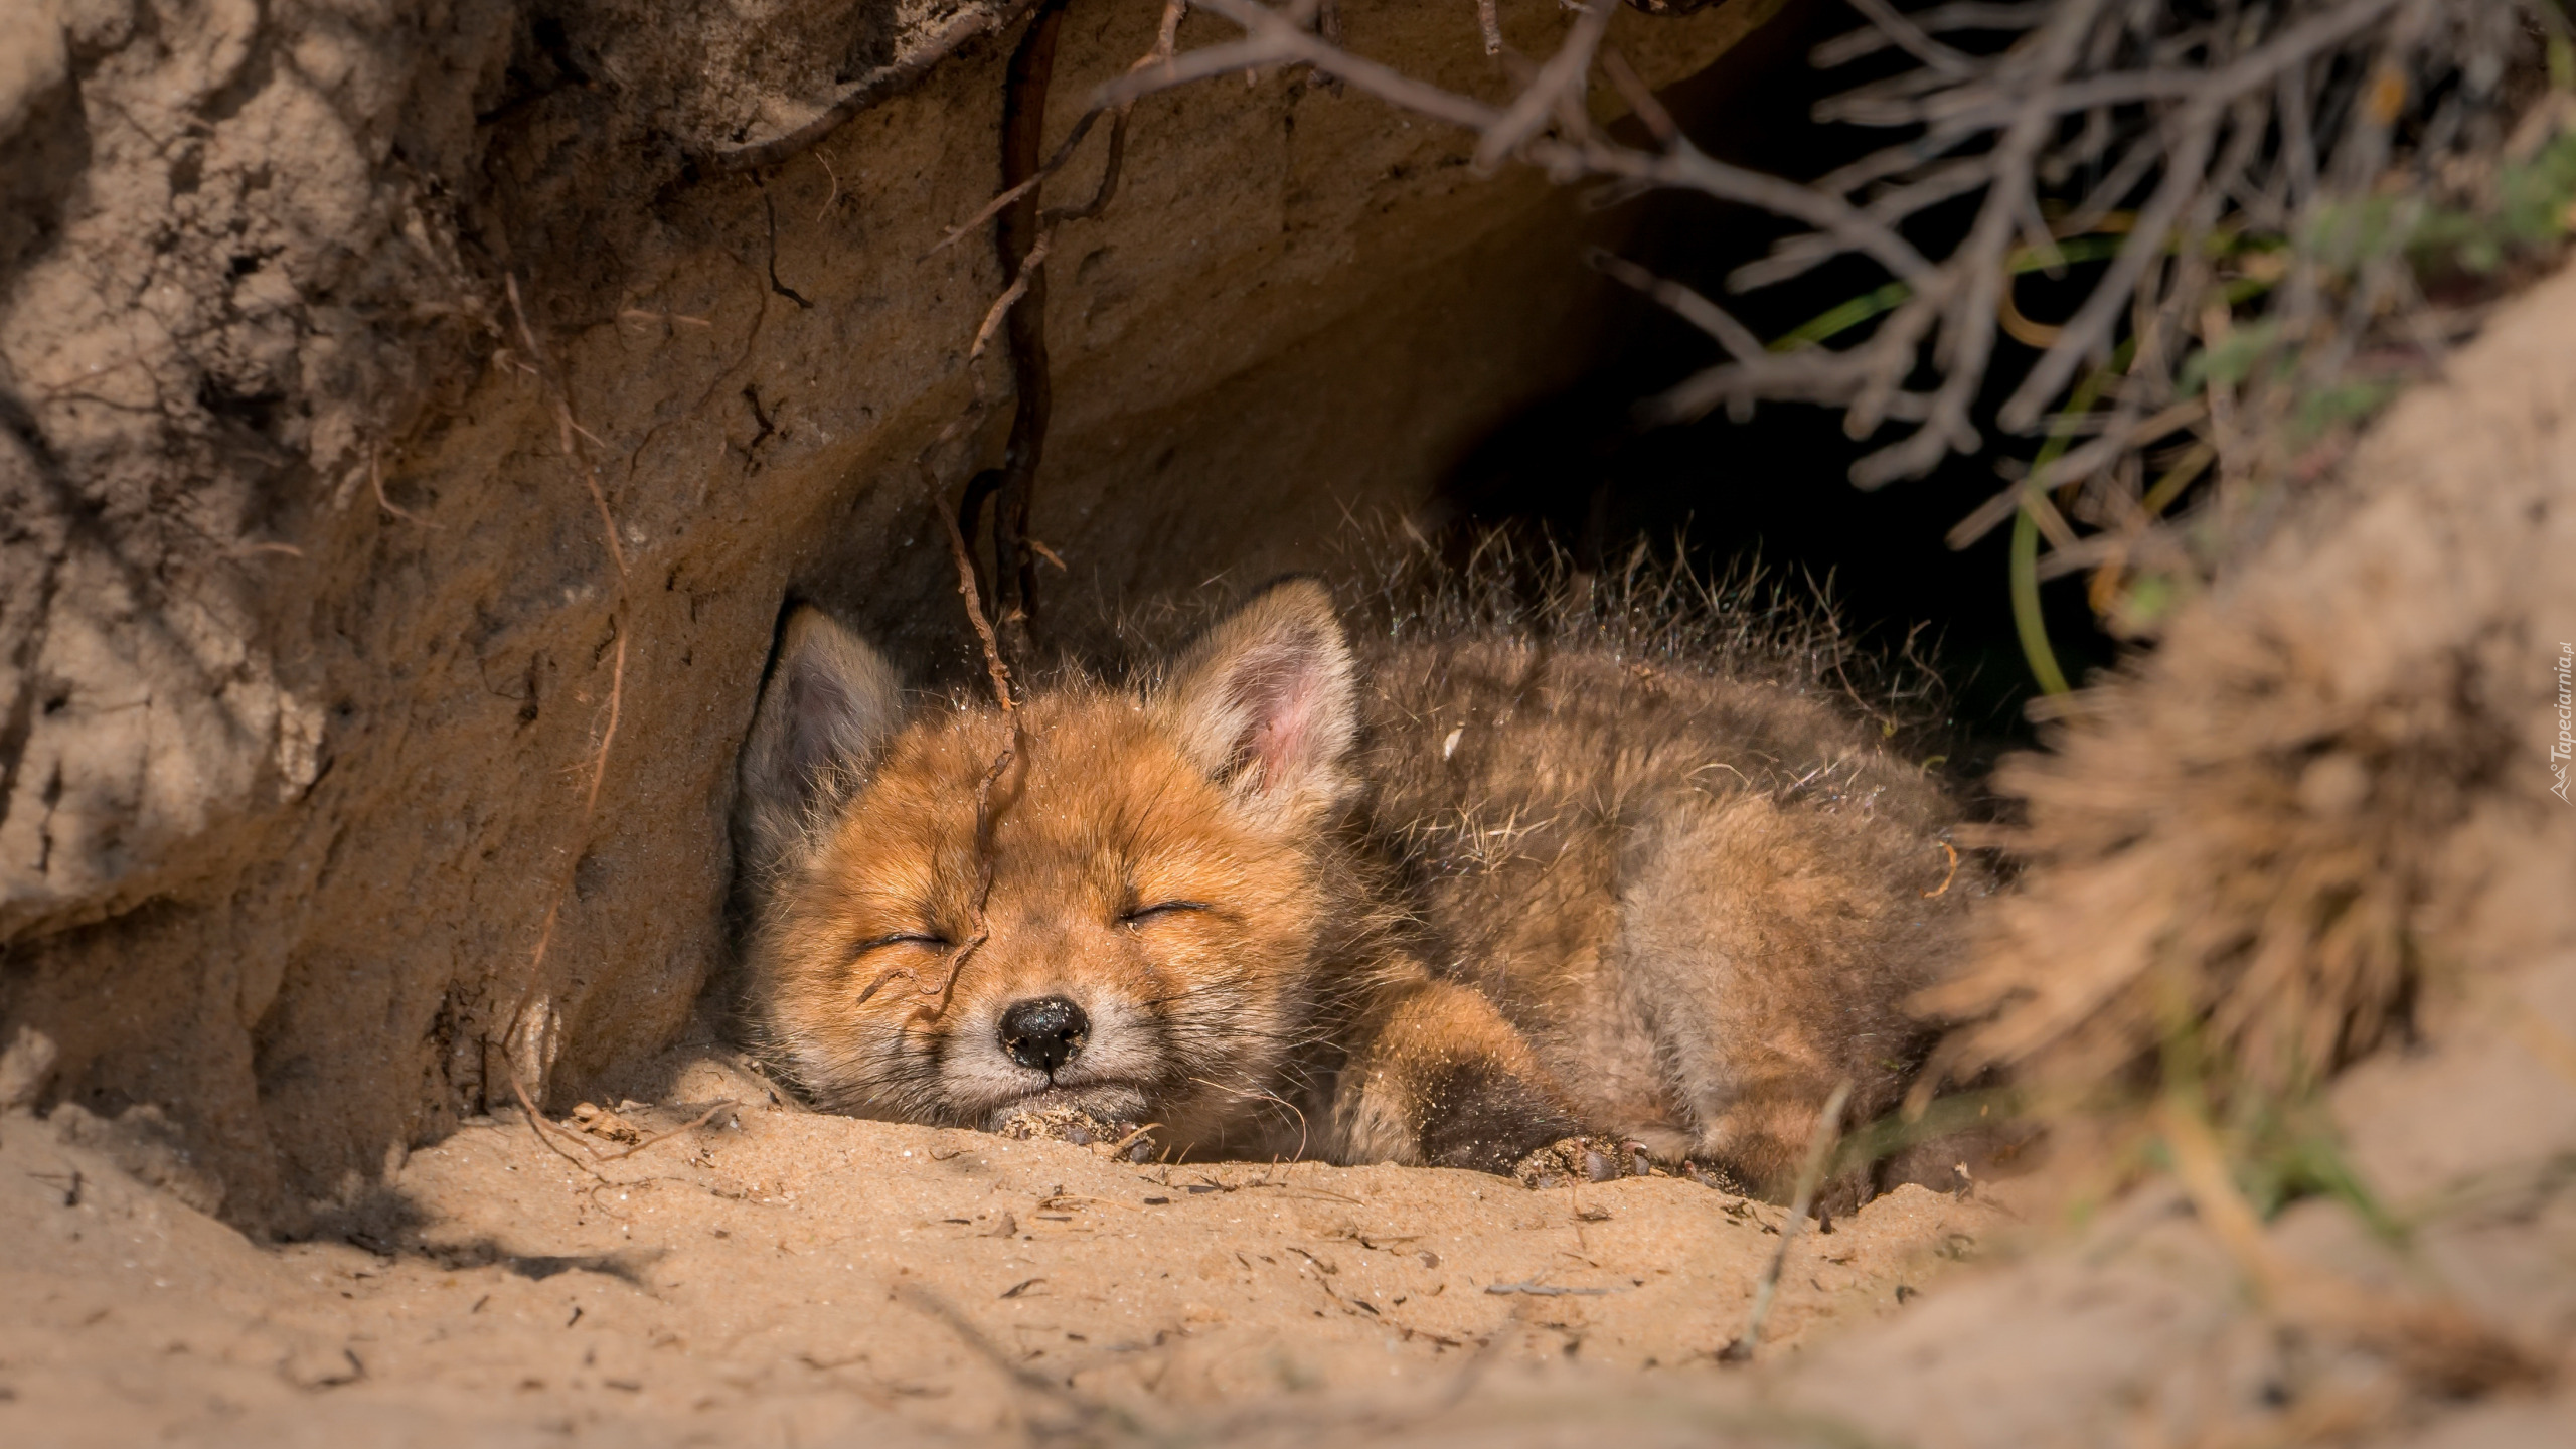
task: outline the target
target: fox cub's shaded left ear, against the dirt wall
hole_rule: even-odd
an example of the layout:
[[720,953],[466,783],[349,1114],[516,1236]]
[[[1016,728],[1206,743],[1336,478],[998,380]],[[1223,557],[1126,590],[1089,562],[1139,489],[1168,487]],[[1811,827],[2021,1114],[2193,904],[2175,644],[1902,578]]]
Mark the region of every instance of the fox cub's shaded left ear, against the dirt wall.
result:
[[829,771],[863,763],[902,724],[904,683],[894,665],[822,608],[799,606],[742,743],[739,812],[757,856],[775,861]]

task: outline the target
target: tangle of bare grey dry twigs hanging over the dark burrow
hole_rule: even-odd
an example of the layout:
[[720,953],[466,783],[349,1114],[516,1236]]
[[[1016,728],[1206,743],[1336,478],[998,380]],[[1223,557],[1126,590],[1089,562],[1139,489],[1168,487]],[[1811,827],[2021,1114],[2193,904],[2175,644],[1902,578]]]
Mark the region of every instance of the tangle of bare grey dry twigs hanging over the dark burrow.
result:
[[[1901,428],[1852,467],[1852,482],[1878,487],[1981,446],[1973,413],[2004,345],[2027,345],[2035,358],[1996,420],[2030,431],[2128,333],[2128,361],[2102,389],[2099,420],[2074,428],[2094,433],[2092,441],[2063,449],[2045,474],[2004,490],[1953,534],[1963,547],[2030,511],[2063,554],[2043,562],[2040,575],[2138,557],[2187,559],[2164,536],[2164,513],[2197,474],[2146,511],[2138,490],[2123,492],[2117,482],[2141,449],[2174,436],[2215,443],[2221,480],[2280,467],[2280,459],[2228,456],[2231,415],[2259,425],[2251,436],[2282,433],[2290,402],[2334,384],[2403,286],[2396,258],[2414,222],[2396,217],[2362,237],[2365,201],[2393,170],[2421,180],[2455,157],[2499,150],[2496,77],[2504,57],[2527,44],[2517,15],[2563,31],[2537,0],[2285,0],[2226,23],[2164,0],[1958,0],[1917,13],[1855,0],[1868,28],[1826,41],[1816,62],[1839,67],[1901,49],[1919,64],[1826,101],[1819,116],[1893,129],[1899,139],[1801,186],[1700,152],[1602,46],[1607,3],[1577,5],[1564,44],[1504,106],[1345,52],[1316,34],[1311,5],[1193,3],[1231,21],[1239,39],[1167,54],[1175,34],[1167,10],[1164,54],[1095,90],[1095,111],[1123,111],[1141,95],[1216,75],[1306,64],[1471,131],[1479,165],[1517,157],[1558,180],[1605,178],[1613,196],[1680,188],[1801,222],[1803,232],[1728,278],[1739,291],[1834,258],[1870,260],[1891,278],[1875,302],[1844,309],[1844,320],[1819,320],[1762,345],[1710,297],[1633,263],[1600,260],[1726,353],[1646,405],[1651,423],[1775,400],[1842,407],[1855,438]],[[1497,41],[1492,23],[1486,41]],[[1623,144],[1589,121],[1582,98],[1592,64],[1620,88],[1654,144]],[[2414,98],[2427,101],[2409,111]],[[2393,150],[2401,116],[2424,129],[2411,157]],[[1932,258],[1906,240],[1904,227],[1971,196],[1968,232],[1947,253]],[[2249,250],[2254,229],[2285,237],[2287,253]],[[2347,260],[2321,260],[2331,255]],[[2099,266],[2081,302],[2063,322],[2032,322],[2012,297],[2012,278],[2058,276],[2071,258]],[[2277,366],[2239,369],[2244,384],[2213,384],[2208,410],[2187,413],[2197,397],[2184,364],[2215,345],[2202,315],[2267,291],[2267,327],[2254,345]],[[1929,387],[1917,382],[1924,364],[1937,374]],[[2259,397],[2231,410],[2236,387]],[[2249,436],[2246,425],[2236,433]],[[2120,541],[2076,554],[2069,508]],[[2105,601],[2112,583],[2097,575]]]

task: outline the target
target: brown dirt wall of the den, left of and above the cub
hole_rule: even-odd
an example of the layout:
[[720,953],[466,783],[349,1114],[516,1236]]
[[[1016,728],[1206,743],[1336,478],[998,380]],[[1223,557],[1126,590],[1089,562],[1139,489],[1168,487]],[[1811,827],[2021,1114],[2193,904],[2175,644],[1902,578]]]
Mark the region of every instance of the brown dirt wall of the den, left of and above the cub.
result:
[[[1615,39],[1664,85],[1772,10]],[[1074,0],[1048,144],[1157,15]],[[1502,15],[1525,52],[1564,23]],[[1342,21],[1504,88],[1466,5]],[[981,229],[935,242],[997,188],[1012,36],[884,3],[0,15],[0,1034],[54,1044],[13,1091],[142,1111],[170,1186],[291,1230],[513,1070],[564,1098],[688,1026],[781,601],[956,657],[912,459],[1002,291]],[[1296,567],[1345,503],[1419,500],[1579,364],[1600,227],[1306,75],[1146,101],[1051,263],[1059,596]]]

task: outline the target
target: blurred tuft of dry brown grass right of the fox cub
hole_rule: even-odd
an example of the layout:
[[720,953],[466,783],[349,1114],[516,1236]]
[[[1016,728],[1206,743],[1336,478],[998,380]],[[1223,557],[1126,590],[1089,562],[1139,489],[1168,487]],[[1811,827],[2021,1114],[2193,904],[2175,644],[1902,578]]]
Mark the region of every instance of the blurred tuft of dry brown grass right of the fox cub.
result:
[[2300,657],[2331,639],[2200,642],[1999,771],[2027,802],[2007,843],[2053,887],[1996,902],[1978,967],[1922,1000],[1976,1021],[1940,1067],[2110,1083],[2197,1021],[2228,1078],[2298,1093],[2403,1018],[2432,851],[2504,743],[2463,678],[2339,699]]

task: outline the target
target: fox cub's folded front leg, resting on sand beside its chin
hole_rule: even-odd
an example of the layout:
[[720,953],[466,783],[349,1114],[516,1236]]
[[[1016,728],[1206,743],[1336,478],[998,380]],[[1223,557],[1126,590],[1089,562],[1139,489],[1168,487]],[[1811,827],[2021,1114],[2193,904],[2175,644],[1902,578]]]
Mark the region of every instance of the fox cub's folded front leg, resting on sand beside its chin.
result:
[[1347,1160],[1510,1173],[1582,1132],[1530,1044],[1473,987],[1391,987],[1360,1031],[1334,1091]]

